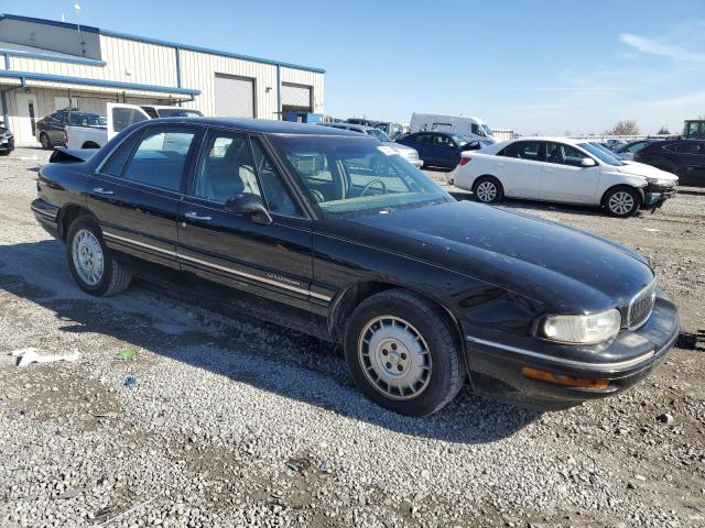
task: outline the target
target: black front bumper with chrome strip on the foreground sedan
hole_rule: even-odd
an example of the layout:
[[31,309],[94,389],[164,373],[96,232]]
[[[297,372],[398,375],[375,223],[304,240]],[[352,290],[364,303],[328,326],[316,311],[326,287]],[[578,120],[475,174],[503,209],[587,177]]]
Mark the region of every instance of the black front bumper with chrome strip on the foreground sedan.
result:
[[[535,338],[518,345],[468,334],[467,363],[474,385],[480,393],[545,409],[570,407],[632,386],[663,361],[680,333],[675,305],[663,292],[657,293],[647,323],[620,332],[606,345],[581,348]],[[524,370],[550,373],[553,381],[529,377]]]

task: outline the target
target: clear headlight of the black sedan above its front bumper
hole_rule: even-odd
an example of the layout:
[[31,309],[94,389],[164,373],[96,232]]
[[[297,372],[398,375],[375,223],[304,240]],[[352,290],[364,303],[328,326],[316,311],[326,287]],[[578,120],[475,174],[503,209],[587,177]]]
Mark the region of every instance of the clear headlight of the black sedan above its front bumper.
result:
[[589,316],[549,316],[540,326],[543,337],[561,343],[594,344],[619,333],[621,314],[612,309]]

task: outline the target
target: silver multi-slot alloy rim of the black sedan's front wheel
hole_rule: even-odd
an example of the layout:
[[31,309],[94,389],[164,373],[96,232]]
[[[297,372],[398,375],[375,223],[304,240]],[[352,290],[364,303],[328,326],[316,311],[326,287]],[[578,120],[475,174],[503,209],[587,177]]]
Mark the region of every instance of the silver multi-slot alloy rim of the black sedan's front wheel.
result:
[[419,330],[399,317],[377,317],[365,326],[358,360],[367,380],[388,398],[415,398],[431,381],[429,345]]

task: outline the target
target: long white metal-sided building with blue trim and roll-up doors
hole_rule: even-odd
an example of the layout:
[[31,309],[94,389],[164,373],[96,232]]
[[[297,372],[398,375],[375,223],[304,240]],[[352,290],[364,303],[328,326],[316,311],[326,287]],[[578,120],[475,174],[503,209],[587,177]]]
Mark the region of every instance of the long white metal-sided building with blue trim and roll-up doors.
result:
[[66,107],[180,105],[205,116],[323,113],[324,69],[85,25],[0,14],[0,105],[18,144]]

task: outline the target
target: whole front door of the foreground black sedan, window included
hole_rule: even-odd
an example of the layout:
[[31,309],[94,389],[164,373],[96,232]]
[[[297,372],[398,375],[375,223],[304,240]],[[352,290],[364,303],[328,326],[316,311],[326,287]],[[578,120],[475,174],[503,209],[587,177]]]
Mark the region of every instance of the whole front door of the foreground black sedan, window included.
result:
[[[228,199],[242,194],[261,197],[271,223],[226,211]],[[269,300],[307,316],[313,275],[311,220],[292,196],[259,139],[210,131],[181,204],[182,270],[252,294],[251,311],[267,309],[262,300]],[[270,315],[278,311],[270,309]]]

